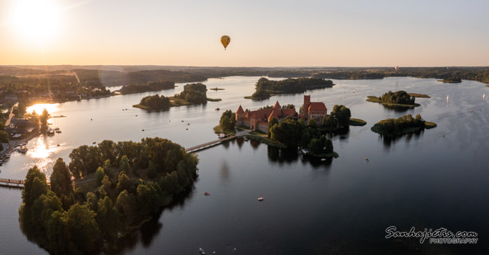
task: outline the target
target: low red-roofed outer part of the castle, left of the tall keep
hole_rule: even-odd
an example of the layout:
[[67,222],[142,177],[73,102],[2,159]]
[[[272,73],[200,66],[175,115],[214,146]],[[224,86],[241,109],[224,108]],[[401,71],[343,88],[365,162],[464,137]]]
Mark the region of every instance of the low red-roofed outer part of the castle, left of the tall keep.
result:
[[279,122],[284,120],[286,117],[297,117],[297,112],[295,108],[293,109],[282,109],[279,101],[273,105],[272,108],[265,108],[261,110],[246,111],[243,108],[238,107],[236,110],[236,124],[238,126],[249,126],[249,129],[259,130],[262,132],[268,131],[268,122],[275,118]]

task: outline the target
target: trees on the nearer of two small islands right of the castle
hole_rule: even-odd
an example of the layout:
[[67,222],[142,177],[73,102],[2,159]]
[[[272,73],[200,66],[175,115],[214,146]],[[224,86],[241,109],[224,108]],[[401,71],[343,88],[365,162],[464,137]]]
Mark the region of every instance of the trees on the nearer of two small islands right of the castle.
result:
[[372,127],[373,131],[378,131],[378,133],[387,133],[390,135],[400,135],[402,134],[402,129],[408,128],[421,128],[425,127],[425,120],[421,115],[416,115],[413,117],[411,114],[404,115],[397,119],[383,119],[377,122]]

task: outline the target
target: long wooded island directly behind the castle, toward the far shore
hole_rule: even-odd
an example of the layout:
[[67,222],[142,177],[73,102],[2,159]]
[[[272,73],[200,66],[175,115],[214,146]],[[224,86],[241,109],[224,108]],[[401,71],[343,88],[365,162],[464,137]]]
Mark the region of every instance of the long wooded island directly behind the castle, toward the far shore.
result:
[[245,99],[268,99],[277,94],[303,93],[307,89],[322,89],[333,87],[333,81],[323,78],[288,78],[285,80],[268,80],[260,78],[256,82],[254,94],[245,96]]

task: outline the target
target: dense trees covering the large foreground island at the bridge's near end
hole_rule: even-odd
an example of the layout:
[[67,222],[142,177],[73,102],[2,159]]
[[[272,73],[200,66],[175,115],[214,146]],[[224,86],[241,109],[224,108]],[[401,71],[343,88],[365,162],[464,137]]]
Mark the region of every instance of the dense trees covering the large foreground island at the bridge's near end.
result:
[[[50,186],[36,166],[27,173],[19,210],[20,226],[29,240],[51,254],[100,252],[98,244],[105,238],[129,233],[168,205],[174,195],[187,189],[196,178],[196,156],[186,154],[180,145],[169,140],[145,138],[141,143],[126,146],[118,145],[127,142],[104,142],[103,148],[91,155],[99,157],[98,163],[91,162],[97,168],[93,191],[73,189],[70,169],[62,159],[54,165]],[[143,147],[130,148],[136,144]],[[133,150],[138,155],[119,157],[119,150]],[[145,169],[141,168],[144,165]],[[152,171],[154,174],[150,174]],[[152,175],[151,180],[130,177],[138,172]]]

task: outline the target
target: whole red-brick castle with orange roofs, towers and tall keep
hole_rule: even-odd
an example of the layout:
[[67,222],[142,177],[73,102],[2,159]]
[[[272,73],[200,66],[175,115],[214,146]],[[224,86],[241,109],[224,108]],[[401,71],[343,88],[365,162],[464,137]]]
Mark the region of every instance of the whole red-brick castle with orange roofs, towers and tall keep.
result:
[[281,122],[286,117],[292,117],[293,119],[316,119],[316,122],[321,122],[323,117],[327,117],[328,109],[322,102],[311,102],[311,96],[304,96],[304,104],[302,105],[302,114],[295,112],[295,108],[282,109],[279,101],[273,105],[272,108],[265,108],[261,110],[246,111],[243,108],[238,107],[236,110],[236,125],[249,126],[249,129],[259,130],[262,132],[268,131],[268,122],[272,118]]

